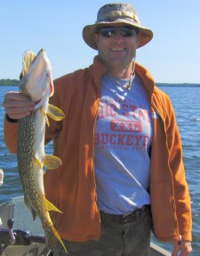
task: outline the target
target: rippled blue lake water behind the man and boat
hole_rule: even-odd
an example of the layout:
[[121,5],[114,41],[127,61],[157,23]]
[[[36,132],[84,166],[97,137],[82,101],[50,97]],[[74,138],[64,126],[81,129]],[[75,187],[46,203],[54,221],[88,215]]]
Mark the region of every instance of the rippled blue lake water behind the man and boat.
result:
[[[186,169],[193,212],[193,252],[200,255],[200,87],[160,87],[172,100],[183,146],[183,161]],[[4,93],[17,87],[0,87],[0,168],[4,169],[4,185],[0,187],[0,203],[22,195],[17,172],[16,156],[4,145],[3,123]],[[52,151],[47,145],[46,152]],[[155,242],[154,238],[152,238]],[[160,244],[171,250],[171,244]]]

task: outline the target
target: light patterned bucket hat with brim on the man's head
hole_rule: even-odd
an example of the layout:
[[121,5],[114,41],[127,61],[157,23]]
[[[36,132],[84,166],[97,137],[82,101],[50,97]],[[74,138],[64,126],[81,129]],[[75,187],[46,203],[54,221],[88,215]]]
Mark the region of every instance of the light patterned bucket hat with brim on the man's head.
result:
[[97,21],[83,29],[84,42],[97,50],[94,33],[99,27],[128,25],[138,30],[138,48],[148,44],[153,37],[151,29],[140,25],[139,17],[131,4],[113,3],[103,5],[97,13]]

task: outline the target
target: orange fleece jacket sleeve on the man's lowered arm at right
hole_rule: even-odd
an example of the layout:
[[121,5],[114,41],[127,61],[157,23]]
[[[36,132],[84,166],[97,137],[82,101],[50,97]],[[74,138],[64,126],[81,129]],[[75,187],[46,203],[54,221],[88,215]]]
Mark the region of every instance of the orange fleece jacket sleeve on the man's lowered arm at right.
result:
[[167,145],[169,149],[169,165],[172,169],[176,215],[179,223],[180,235],[185,240],[191,240],[192,218],[188,184],[182,161],[182,147],[180,133],[177,127],[175,113],[168,99],[169,110],[166,119]]

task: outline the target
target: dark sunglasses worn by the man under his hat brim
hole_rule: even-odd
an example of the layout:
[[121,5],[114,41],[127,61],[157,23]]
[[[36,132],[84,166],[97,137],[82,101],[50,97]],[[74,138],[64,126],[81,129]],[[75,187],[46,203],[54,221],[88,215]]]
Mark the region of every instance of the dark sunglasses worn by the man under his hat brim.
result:
[[115,37],[117,31],[119,31],[122,37],[132,37],[137,35],[137,30],[129,27],[101,27],[98,29],[98,33],[102,37]]

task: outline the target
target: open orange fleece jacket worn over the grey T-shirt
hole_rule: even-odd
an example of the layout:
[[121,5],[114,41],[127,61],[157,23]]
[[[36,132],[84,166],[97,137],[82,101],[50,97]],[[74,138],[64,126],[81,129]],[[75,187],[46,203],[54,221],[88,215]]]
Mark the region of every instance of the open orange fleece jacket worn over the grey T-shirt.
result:
[[[98,240],[100,215],[93,171],[94,124],[100,100],[100,77],[105,72],[98,58],[84,70],[54,81],[50,102],[62,109],[65,120],[50,121],[46,141],[53,139],[54,154],[62,160],[45,175],[45,194],[63,213],[51,213],[63,239]],[[136,63],[135,71],[146,88],[152,111],[153,141],[149,191],[153,230],[162,241],[191,240],[191,208],[182,162],[180,135],[172,104],[155,87],[148,70]],[[4,120],[4,142],[16,153],[18,123]]]

